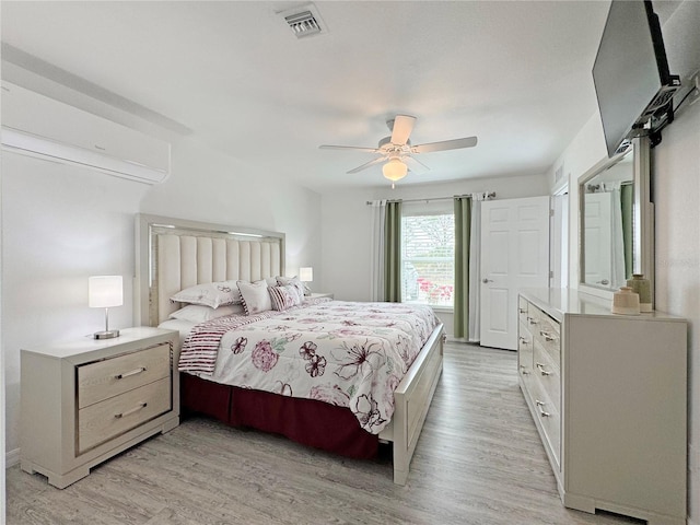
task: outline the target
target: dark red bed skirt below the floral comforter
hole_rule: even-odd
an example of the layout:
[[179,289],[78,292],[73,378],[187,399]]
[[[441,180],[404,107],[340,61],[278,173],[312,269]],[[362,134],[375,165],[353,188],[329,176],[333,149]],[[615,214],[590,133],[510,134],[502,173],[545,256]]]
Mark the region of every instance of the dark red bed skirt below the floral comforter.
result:
[[180,373],[183,413],[211,416],[232,427],[282,434],[296,443],[346,457],[371,458],[378,436],[360,428],[354,415],[315,399],[238,388]]

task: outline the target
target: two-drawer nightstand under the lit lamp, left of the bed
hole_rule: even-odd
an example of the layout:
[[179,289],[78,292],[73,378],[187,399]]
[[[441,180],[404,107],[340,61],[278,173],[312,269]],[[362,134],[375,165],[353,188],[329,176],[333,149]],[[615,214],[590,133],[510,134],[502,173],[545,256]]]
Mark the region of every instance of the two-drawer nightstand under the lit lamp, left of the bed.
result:
[[177,332],[139,327],[114,339],[25,349],[21,466],[59,489],[179,424]]

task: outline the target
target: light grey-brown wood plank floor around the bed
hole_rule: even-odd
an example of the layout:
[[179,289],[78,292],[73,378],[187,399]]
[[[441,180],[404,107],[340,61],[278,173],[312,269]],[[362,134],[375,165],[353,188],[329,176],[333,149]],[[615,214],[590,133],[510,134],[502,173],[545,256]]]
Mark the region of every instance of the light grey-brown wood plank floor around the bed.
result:
[[567,510],[514,352],[448,343],[406,487],[390,462],[190,419],[58,490],[7,471],[13,524],[619,524]]

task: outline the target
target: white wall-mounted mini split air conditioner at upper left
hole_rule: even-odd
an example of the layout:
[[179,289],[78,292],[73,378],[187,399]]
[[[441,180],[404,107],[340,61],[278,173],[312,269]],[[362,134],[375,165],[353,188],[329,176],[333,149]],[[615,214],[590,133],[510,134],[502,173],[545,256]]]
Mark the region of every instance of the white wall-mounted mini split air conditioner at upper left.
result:
[[170,143],[9,82],[2,82],[1,115],[7,151],[144,184],[171,173]]

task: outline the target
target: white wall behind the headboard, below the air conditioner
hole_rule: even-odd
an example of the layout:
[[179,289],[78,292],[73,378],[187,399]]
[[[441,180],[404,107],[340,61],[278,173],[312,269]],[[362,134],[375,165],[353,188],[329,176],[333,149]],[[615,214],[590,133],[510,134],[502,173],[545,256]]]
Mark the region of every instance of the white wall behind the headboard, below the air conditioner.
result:
[[7,451],[20,446],[20,349],[102,329],[104,313],[86,306],[88,277],[125,276],[125,305],[110,326],[132,324],[135,213],[147,212],[287,234],[288,273],[320,271],[320,196],[271,179],[185,139],[174,145],[173,174],[145,186],[86,168],[19,154],[2,158],[2,351]]

